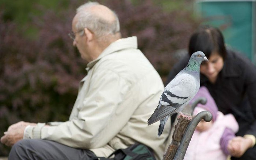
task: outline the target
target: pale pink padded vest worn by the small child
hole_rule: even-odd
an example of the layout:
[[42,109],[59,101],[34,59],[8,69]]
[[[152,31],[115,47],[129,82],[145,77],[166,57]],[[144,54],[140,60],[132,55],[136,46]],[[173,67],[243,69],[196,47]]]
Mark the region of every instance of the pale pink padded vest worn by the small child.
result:
[[225,128],[230,128],[235,133],[238,131],[238,123],[232,114],[223,115],[218,111],[216,121],[209,130],[195,130],[184,160],[226,160],[227,155],[221,150],[220,145]]

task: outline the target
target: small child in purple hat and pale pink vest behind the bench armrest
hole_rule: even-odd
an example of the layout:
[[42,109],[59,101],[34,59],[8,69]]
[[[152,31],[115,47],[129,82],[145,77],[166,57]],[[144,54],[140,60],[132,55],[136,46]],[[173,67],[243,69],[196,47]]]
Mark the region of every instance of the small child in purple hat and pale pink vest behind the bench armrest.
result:
[[[201,120],[191,138],[184,160],[226,160],[230,155],[227,145],[228,141],[235,137],[238,131],[238,123],[232,114],[224,115],[218,111],[217,105],[206,87],[200,87],[196,96],[190,103],[199,97],[205,97],[207,103],[197,104],[192,116],[201,111],[210,111],[213,119],[210,122]],[[237,147],[236,143],[232,143]]]

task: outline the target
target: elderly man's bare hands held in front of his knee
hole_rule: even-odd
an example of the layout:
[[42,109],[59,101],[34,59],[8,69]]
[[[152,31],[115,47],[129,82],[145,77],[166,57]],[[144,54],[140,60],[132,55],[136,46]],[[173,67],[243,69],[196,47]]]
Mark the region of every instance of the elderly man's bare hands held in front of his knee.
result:
[[6,132],[4,132],[4,136],[1,137],[1,143],[7,146],[12,146],[19,140],[23,139],[23,133],[25,128],[28,125],[36,125],[36,123],[29,123],[20,121],[11,125]]

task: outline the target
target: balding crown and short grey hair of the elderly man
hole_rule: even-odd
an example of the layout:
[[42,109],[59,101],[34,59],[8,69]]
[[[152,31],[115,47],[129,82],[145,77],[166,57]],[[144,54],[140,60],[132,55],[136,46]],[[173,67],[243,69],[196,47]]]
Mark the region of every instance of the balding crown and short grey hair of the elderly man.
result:
[[119,33],[119,20],[116,14],[106,6],[97,2],[87,2],[81,5],[76,12],[74,21],[77,30],[88,28],[97,38]]

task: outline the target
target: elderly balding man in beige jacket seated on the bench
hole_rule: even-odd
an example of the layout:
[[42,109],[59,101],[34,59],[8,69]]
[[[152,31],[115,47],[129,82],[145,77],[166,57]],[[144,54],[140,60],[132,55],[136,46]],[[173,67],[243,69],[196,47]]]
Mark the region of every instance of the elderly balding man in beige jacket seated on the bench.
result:
[[66,122],[11,125],[1,142],[12,146],[9,160],[107,157],[139,142],[163,156],[170,122],[157,137],[159,124],[147,126],[157,106],[163,83],[137,49],[136,37],[121,39],[119,20],[106,6],[88,2],[77,9],[69,36],[87,76]]

